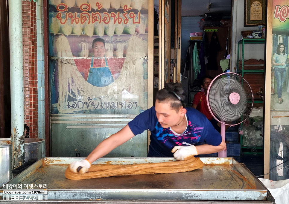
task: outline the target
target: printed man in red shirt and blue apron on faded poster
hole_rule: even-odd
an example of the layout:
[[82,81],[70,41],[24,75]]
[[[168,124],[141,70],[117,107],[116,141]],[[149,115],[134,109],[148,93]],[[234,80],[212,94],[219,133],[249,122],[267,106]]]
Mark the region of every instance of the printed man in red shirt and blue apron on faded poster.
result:
[[98,87],[107,86],[120,74],[124,58],[106,58],[105,42],[102,38],[93,40],[92,50],[91,60],[74,59],[77,69],[88,83]]

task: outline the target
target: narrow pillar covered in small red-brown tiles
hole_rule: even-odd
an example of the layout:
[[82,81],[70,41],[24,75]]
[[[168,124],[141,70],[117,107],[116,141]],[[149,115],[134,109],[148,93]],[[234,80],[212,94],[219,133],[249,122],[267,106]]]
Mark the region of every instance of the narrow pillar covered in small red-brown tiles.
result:
[[38,138],[36,3],[22,0],[24,122],[29,137]]

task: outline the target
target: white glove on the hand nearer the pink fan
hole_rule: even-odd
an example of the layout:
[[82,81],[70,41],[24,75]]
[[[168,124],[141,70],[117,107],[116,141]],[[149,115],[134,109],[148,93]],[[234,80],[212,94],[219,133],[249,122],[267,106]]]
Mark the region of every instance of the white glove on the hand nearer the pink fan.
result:
[[174,146],[172,153],[174,153],[174,157],[177,158],[177,160],[185,161],[192,158],[194,155],[198,155],[198,150],[194,145]]

